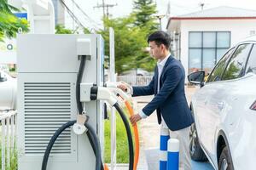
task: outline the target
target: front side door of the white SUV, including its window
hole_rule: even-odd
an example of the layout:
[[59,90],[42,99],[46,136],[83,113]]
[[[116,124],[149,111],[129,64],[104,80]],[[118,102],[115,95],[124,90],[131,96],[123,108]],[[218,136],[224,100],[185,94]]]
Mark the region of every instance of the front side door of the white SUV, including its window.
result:
[[211,105],[209,105],[208,102],[211,101],[213,95],[216,95],[218,88],[221,88],[218,85],[218,81],[221,80],[224,69],[233,52],[234,48],[231,48],[224,54],[224,57],[219,60],[218,64],[208,77],[205,86],[193,97],[197,133],[202,146],[207,149],[209,156],[214,155],[214,151],[212,150],[214,135],[212,136],[212,133],[217,128],[218,118],[212,113],[212,108],[209,108]]

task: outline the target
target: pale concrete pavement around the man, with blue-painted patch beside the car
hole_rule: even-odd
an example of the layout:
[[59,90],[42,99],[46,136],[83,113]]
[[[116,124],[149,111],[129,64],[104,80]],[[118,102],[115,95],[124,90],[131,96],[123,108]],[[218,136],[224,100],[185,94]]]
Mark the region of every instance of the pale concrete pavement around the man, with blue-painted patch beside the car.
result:
[[[198,88],[191,87],[185,88],[188,103],[191,96]],[[137,106],[137,112],[141,111],[145,105],[148,104],[154,96],[142,96],[133,98]],[[158,148],[160,143],[160,126],[157,123],[157,117],[155,112],[146,119],[143,119],[140,124],[140,160],[138,164],[138,170],[158,169]],[[150,165],[148,166],[148,162]],[[118,167],[118,170],[127,169],[127,167]],[[196,162],[192,161],[193,170],[212,170],[212,166],[208,162]]]

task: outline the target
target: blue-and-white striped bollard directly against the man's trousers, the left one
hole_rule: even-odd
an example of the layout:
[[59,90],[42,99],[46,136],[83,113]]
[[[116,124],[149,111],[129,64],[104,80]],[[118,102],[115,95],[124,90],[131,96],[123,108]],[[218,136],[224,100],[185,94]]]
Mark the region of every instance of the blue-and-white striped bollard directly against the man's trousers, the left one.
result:
[[160,170],[167,169],[167,145],[170,139],[169,129],[160,127]]

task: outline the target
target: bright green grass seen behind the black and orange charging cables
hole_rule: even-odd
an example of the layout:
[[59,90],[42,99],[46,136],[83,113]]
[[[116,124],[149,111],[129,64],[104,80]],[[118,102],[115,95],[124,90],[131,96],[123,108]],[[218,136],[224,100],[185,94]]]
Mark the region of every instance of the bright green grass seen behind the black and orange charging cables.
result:
[[[127,112],[127,111],[125,111]],[[127,114],[126,114],[127,115]],[[128,116],[126,116],[128,119]],[[130,122],[130,121],[129,121]],[[104,150],[104,161],[106,163],[110,163],[111,161],[111,127],[110,120],[105,120],[105,150]],[[133,136],[133,130],[131,129],[131,133]],[[133,139],[134,141],[134,139]],[[129,162],[129,149],[128,149],[128,141],[127,135],[125,131],[125,125],[119,116],[116,114],[116,157],[117,163],[128,163]]]

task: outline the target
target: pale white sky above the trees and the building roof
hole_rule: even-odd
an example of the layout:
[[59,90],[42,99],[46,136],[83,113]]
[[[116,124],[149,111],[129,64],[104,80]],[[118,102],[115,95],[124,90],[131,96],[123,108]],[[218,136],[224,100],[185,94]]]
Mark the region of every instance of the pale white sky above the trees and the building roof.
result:
[[[71,0],[66,0],[68,6],[73,9],[74,14],[79,16],[84,25],[91,28],[101,28],[102,27],[102,8],[94,8],[97,4],[102,4],[102,0],[74,0],[80,8],[84,10],[84,14],[79,13],[79,9],[73,6]],[[177,16],[180,14],[189,14],[192,12],[200,11],[200,3],[204,3],[204,9],[215,8],[218,6],[230,6],[236,8],[247,8],[256,10],[256,0],[154,0],[157,4],[158,14],[166,14],[168,3],[171,7],[171,16]],[[105,0],[105,3],[108,4],[117,4],[113,8],[109,8],[109,14],[112,18],[124,17],[131,13],[133,0]],[[84,17],[83,17],[84,16]],[[73,21],[68,19],[67,15],[67,27],[73,27]],[[165,17],[162,20],[162,29],[166,29],[167,18]]]

